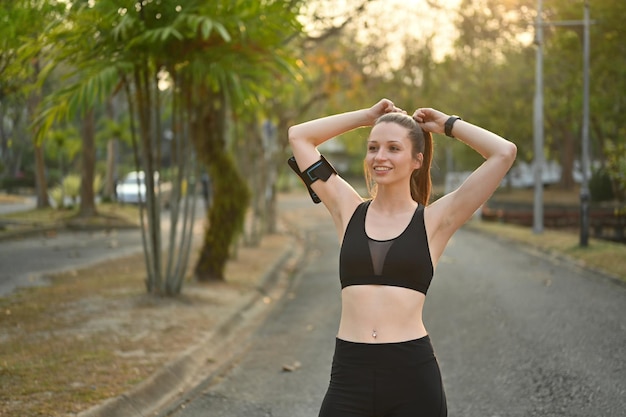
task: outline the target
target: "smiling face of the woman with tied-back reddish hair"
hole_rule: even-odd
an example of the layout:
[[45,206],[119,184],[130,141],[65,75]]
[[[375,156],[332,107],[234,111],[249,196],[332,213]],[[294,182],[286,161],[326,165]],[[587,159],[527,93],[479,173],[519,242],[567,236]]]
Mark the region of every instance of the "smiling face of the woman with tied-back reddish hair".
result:
[[422,154],[413,155],[408,130],[397,123],[376,124],[367,141],[365,165],[377,184],[409,181],[422,165]]

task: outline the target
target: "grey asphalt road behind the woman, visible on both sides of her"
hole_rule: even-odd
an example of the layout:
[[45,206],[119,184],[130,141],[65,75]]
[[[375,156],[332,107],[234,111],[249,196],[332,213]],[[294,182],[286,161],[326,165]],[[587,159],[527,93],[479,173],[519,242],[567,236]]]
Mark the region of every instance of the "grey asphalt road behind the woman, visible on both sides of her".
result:
[[[310,247],[289,296],[241,360],[170,416],[317,415],[340,311],[338,243],[328,219],[292,210]],[[449,415],[624,417],[625,317],[626,286],[459,231],[425,311]]]

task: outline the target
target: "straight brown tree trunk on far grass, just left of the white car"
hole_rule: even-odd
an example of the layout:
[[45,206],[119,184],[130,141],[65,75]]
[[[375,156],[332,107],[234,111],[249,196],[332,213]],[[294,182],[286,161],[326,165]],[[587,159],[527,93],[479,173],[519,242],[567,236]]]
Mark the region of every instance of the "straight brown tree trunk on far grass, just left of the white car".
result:
[[93,181],[96,167],[95,120],[93,108],[89,109],[83,120],[83,149],[80,182],[79,217],[91,217],[97,214]]

